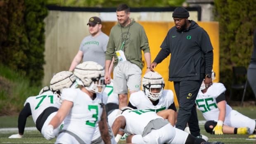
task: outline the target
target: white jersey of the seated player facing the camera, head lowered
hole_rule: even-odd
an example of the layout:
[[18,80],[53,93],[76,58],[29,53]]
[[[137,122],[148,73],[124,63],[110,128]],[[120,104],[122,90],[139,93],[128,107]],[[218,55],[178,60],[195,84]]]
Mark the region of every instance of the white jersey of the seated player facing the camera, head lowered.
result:
[[149,98],[144,94],[143,91],[134,92],[130,95],[130,104],[137,107],[137,109],[150,109],[156,113],[165,109],[168,109],[173,104],[173,91],[163,90],[159,103],[154,106]]

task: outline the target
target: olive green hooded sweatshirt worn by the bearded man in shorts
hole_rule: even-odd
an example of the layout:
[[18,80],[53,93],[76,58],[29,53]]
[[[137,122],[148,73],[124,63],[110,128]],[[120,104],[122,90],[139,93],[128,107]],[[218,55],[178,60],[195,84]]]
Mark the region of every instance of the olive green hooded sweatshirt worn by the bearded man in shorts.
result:
[[126,60],[142,69],[142,50],[144,53],[150,53],[149,42],[143,26],[133,20],[128,26],[123,27],[118,23],[111,28],[106,60],[112,60],[112,57],[115,56],[114,66],[117,65],[116,51],[121,50],[123,40],[125,39],[125,45],[122,50]]

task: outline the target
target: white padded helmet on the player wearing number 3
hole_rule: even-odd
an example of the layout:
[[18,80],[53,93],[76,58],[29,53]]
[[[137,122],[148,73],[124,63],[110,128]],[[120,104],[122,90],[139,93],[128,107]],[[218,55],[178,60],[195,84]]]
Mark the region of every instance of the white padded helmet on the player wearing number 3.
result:
[[85,61],[74,69],[78,85],[95,93],[102,93],[105,89],[104,74],[103,67],[94,61]]

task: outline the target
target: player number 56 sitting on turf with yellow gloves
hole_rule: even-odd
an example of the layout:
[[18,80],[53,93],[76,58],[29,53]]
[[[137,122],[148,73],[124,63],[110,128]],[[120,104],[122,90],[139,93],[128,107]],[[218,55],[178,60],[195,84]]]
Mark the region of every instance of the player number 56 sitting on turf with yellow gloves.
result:
[[[212,77],[214,78],[213,72]],[[204,82],[195,100],[205,118],[206,132],[215,135],[253,134],[256,121],[233,110],[225,101],[226,88],[222,83],[213,83],[205,87]]]

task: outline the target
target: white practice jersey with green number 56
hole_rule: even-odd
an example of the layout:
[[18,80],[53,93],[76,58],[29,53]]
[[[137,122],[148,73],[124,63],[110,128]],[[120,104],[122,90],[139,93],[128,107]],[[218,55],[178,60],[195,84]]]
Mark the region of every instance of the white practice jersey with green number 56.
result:
[[[199,90],[196,98],[197,109],[203,113],[206,120],[218,121],[219,109],[216,98],[225,91],[226,88],[222,83],[213,83],[204,94]],[[226,102],[226,116],[231,110],[232,108]]]

